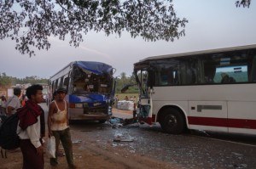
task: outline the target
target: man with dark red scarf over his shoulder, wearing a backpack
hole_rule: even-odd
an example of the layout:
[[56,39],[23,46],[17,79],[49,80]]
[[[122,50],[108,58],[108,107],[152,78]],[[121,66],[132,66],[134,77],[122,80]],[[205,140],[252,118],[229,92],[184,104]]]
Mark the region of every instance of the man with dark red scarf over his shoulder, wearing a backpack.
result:
[[32,85],[26,89],[28,100],[18,112],[20,149],[23,155],[23,169],[44,169],[44,110],[38,105],[43,102],[43,87]]

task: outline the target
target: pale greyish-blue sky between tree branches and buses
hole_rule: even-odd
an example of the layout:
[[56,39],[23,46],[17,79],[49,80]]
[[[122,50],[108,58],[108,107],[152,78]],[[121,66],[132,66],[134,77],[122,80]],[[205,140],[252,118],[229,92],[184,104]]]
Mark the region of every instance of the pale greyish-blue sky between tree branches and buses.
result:
[[174,42],[146,42],[142,37],[131,38],[103,32],[84,35],[79,48],[70,47],[68,40],[49,37],[48,51],[35,51],[31,58],[15,50],[15,42],[0,40],[0,73],[25,78],[49,78],[75,60],[99,61],[112,65],[119,76],[131,76],[133,64],[149,56],[178,54],[214,48],[228,48],[256,44],[256,3],[250,8],[236,8],[236,0],[173,0],[177,17],[189,20],[185,37]]

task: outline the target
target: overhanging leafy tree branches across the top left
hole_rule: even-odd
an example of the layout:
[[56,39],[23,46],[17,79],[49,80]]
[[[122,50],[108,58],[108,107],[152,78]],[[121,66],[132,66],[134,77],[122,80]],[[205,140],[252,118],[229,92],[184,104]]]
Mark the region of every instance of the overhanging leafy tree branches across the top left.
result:
[[21,54],[49,49],[49,37],[69,38],[71,46],[83,42],[88,31],[104,31],[146,41],[184,36],[188,22],[179,19],[172,0],[9,0],[0,1],[0,39],[16,42]]

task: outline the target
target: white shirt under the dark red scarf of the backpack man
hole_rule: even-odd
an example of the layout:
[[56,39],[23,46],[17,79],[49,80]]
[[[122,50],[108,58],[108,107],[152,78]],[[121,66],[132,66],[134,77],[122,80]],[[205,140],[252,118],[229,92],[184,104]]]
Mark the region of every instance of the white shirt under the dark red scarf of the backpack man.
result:
[[20,136],[20,139],[30,139],[31,143],[35,146],[35,148],[40,147],[42,144],[40,143],[41,130],[40,130],[40,115],[38,115],[38,122],[32,124],[29,127],[26,127],[26,130],[22,130],[20,128],[20,121],[17,127],[17,133]]

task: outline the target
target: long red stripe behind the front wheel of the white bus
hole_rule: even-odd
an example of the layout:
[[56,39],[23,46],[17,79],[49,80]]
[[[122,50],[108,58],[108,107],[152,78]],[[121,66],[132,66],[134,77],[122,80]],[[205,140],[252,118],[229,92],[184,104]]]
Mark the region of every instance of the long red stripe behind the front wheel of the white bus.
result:
[[190,125],[256,129],[256,120],[188,116]]

